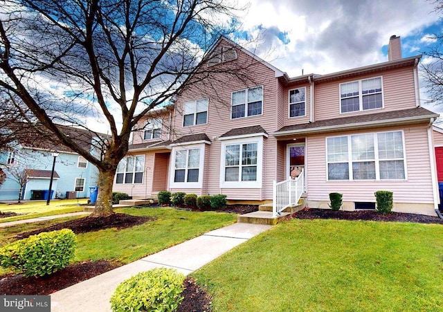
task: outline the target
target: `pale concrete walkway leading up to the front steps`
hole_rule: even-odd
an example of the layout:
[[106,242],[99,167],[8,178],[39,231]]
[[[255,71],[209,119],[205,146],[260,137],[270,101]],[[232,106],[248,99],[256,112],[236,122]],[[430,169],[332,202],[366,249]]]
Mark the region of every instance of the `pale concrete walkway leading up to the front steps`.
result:
[[52,312],[111,311],[109,299],[125,279],[152,268],[175,268],[188,275],[228,250],[271,228],[261,224],[235,223],[190,239],[125,266],[98,275],[51,295]]

